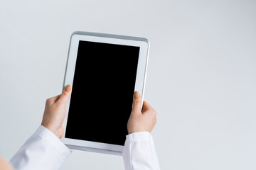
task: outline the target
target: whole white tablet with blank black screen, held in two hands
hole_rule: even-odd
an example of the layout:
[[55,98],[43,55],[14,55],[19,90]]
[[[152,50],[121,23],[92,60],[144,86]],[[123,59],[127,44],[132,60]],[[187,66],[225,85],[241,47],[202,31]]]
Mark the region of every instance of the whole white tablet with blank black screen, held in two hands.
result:
[[149,41],[75,32],[70,38],[63,89],[67,102],[62,141],[70,149],[122,155],[134,91],[144,96]]

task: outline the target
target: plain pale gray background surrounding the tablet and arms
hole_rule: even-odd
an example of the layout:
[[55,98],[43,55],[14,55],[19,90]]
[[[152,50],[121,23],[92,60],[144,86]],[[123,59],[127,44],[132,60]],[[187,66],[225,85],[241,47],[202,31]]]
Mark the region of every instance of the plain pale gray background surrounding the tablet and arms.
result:
[[[0,153],[10,159],[60,94],[71,33],[148,38],[145,100],[161,169],[256,169],[256,3],[3,1]],[[86,89],[85,89],[86,90]],[[62,169],[124,169],[122,157],[73,151]]]

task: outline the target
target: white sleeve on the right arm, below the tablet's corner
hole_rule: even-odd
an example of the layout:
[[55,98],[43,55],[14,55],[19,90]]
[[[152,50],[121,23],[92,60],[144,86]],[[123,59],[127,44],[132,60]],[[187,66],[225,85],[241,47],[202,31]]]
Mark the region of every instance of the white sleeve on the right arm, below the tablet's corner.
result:
[[159,170],[154,141],[149,132],[127,135],[123,150],[126,170]]

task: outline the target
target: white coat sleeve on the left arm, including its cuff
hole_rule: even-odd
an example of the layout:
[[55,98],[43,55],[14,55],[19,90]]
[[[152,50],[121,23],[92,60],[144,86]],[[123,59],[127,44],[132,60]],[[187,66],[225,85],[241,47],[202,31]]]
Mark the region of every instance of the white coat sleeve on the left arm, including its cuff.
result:
[[11,158],[16,170],[57,170],[71,154],[71,150],[57,136],[42,125]]

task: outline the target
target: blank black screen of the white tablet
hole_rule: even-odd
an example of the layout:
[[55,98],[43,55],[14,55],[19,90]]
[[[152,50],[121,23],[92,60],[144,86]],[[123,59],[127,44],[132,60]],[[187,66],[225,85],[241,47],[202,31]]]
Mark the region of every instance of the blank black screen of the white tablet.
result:
[[139,47],[80,41],[65,137],[124,145]]

